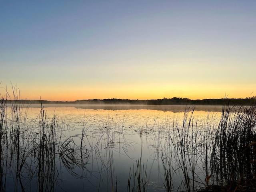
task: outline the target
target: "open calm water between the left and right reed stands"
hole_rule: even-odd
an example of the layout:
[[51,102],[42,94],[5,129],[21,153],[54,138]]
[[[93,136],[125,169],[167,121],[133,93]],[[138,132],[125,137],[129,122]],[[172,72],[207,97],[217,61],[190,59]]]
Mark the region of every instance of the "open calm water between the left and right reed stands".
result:
[[[30,105],[21,109],[21,120],[25,122],[23,128],[31,130],[30,137],[38,134],[41,106]],[[138,172],[147,181],[147,191],[163,191],[161,158],[167,155],[173,160],[172,188],[184,189],[182,169],[177,162],[178,131],[188,124],[188,119],[191,119],[190,126],[185,127],[188,132],[197,131],[198,137],[203,135],[206,126],[216,128],[222,106],[44,105],[44,111],[49,122],[54,116],[57,118],[58,142],[74,141],[72,157],[68,153],[64,159],[56,155],[55,174],[50,175],[54,177],[54,191],[112,191],[116,187],[118,191],[126,191],[138,162],[142,165]],[[203,139],[198,139],[198,144]],[[204,162],[198,158],[195,164],[196,185],[203,186]],[[37,180],[26,179],[24,175],[26,189],[38,190]],[[14,189],[11,184],[7,188]]]

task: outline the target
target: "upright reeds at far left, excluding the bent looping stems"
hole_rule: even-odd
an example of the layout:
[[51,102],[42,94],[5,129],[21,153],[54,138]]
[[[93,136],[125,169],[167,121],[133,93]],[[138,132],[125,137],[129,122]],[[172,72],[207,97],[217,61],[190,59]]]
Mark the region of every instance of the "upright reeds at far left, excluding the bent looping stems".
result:
[[[5,134],[4,142],[1,142],[1,166],[5,169],[2,191],[52,191],[56,178],[56,118],[50,124],[46,123],[42,108],[39,126],[34,127],[27,124],[26,110],[23,109],[16,100],[10,106],[1,107],[1,122],[4,122],[1,134]],[[8,184],[12,179],[14,186]],[[31,182],[37,182],[37,188],[31,188]]]

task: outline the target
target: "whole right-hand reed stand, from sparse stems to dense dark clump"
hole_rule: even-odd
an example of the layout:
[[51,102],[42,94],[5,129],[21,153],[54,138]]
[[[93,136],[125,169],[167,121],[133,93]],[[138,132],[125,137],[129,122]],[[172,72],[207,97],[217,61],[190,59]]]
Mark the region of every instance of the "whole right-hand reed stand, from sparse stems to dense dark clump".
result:
[[[161,144],[162,150],[158,150],[166,190],[174,190],[172,176],[178,172],[182,173],[179,190],[255,190],[255,103],[250,106],[225,104],[217,128],[214,116],[210,117],[209,113],[200,128],[198,122],[194,122],[193,112],[194,108],[185,110],[182,126],[176,123],[176,130],[168,134],[165,147]],[[169,152],[168,147],[173,151]],[[205,180],[199,176],[203,172]]]

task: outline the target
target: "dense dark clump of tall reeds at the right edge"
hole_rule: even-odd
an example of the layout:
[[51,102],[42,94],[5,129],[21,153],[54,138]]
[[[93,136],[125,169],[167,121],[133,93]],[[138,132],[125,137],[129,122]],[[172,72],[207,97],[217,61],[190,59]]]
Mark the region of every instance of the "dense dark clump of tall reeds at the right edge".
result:
[[256,104],[223,106],[212,141],[213,184],[256,190]]

